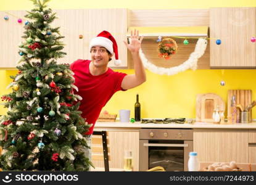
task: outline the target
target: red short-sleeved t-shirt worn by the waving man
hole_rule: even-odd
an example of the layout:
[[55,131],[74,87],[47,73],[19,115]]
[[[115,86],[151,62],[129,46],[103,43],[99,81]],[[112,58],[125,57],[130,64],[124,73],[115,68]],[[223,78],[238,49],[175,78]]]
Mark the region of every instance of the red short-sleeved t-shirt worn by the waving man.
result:
[[71,70],[75,73],[75,86],[78,87],[79,94],[83,97],[79,110],[83,112],[81,116],[86,118],[86,121],[93,126],[89,128],[88,133],[93,134],[93,128],[102,107],[107,104],[109,99],[117,91],[125,91],[121,88],[125,73],[114,72],[108,69],[102,75],[93,76],[89,72],[89,64],[91,60],[76,60],[70,65]]

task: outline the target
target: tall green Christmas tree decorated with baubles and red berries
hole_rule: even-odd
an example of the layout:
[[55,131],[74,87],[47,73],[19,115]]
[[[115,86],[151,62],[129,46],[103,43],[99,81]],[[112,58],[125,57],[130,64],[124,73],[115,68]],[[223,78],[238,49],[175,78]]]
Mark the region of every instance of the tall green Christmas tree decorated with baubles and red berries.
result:
[[57,64],[65,55],[64,36],[52,28],[56,13],[49,0],[31,0],[35,8],[25,17],[20,44],[19,73],[10,76],[13,91],[2,96],[7,115],[0,120],[2,170],[88,171],[88,145],[83,136],[89,125],[78,110],[73,72]]

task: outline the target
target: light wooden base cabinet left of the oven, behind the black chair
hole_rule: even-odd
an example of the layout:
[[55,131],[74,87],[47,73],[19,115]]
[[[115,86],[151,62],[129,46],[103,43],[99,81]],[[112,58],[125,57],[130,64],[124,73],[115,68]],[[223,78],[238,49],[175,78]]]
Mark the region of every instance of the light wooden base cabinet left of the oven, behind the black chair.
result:
[[[126,150],[133,154],[133,170],[139,171],[139,130],[122,129],[108,131],[109,134],[109,171],[123,171],[123,158]],[[96,169],[104,171],[103,160],[93,160]]]

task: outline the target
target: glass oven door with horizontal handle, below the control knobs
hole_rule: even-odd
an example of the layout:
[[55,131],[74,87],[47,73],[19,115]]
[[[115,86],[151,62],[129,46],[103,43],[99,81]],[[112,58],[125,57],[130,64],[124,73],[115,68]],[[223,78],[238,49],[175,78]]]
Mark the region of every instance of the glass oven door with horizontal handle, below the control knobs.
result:
[[166,171],[188,171],[192,144],[192,141],[186,140],[140,140],[139,171],[157,166]]

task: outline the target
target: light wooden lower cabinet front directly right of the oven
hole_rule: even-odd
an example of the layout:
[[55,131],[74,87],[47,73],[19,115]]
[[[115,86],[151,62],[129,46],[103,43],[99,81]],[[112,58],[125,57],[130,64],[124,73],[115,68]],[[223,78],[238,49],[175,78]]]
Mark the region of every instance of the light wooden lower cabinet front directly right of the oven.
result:
[[200,162],[248,162],[248,131],[194,130]]

